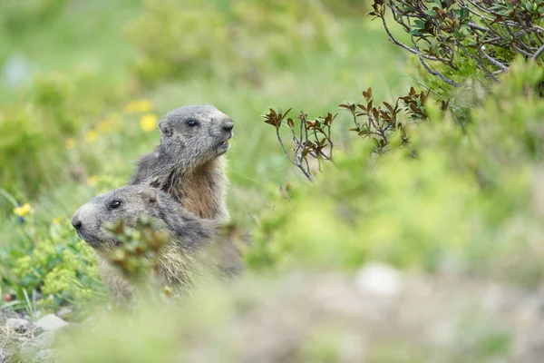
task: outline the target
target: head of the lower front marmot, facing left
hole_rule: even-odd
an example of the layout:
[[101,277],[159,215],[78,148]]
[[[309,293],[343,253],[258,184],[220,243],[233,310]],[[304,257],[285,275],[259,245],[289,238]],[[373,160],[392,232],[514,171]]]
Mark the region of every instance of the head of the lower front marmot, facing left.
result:
[[73,214],[78,236],[95,250],[107,251],[121,242],[106,230],[108,224],[123,220],[135,227],[140,216],[160,218],[160,192],[145,185],[131,185],[100,194]]

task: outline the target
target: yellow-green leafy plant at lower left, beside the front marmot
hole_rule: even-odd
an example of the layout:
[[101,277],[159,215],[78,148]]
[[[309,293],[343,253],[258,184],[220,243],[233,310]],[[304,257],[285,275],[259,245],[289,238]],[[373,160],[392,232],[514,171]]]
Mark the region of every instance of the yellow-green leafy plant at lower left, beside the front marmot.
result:
[[70,221],[53,221],[46,238],[36,240],[32,250],[12,250],[3,264],[12,269],[4,280],[21,301],[19,309],[29,308],[29,296],[42,313],[104,297],[96,255],[75,235]]

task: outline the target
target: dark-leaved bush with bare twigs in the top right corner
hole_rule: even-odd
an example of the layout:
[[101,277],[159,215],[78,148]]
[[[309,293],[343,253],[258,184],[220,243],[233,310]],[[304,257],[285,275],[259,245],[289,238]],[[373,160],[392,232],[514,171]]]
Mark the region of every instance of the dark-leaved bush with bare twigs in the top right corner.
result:
[[[499,81],[497,75],[510,70],[516,55],[542,64],[541,0],[376,0],[372,7],[370,14],[382,20],[393,44],[416,54],[426,72],[454,87],[468,75]],[[388,13],[409,41],[392,34]]]

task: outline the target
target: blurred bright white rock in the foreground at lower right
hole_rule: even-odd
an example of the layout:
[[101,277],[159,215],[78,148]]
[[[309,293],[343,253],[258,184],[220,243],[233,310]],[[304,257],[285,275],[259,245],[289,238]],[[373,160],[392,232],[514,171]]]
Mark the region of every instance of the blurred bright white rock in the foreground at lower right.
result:
[[403,280],[398,270],[383,263],[365,265],[355,278],[355,286],[362,292],[393,298],[401,293]]

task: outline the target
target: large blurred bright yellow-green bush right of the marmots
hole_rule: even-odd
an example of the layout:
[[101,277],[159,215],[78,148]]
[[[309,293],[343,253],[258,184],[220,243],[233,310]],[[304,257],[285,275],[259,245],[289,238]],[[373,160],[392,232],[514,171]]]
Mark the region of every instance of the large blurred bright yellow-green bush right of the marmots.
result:
[[[250,264],[355,269],[384,260],[537,282],[544,106],[530,90],[542,69],[523,61],[511,68],[464,132],[429,104],[430,121],[411,132],[410,149],[390,148],[374,162],[374,142],[363,141],[337,152],[336,168],[315,187],[291,185],[289,200],[278,200],[255,231]],[[403,137],[396,129],[389,139],[402,145]]]

